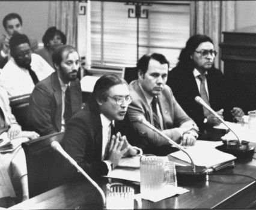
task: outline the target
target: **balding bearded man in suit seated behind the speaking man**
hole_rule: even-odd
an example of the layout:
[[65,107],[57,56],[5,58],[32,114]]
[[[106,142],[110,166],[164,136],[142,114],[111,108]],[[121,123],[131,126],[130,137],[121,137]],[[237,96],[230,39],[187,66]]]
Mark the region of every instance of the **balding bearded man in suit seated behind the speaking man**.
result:
[[28,129],[41,136],[64,131],[67,121],[82,107],[77,50],[61,45],[52,60],[56,72],[35,86],[29,101]]

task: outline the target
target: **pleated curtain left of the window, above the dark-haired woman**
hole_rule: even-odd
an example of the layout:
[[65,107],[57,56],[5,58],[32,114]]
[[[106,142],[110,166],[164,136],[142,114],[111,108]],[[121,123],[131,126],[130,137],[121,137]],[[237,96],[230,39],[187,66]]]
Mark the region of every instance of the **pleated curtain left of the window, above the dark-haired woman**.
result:
[[50,1],[48,26],[56,26],[67,36],[67,44],[77,48],[79,1]]

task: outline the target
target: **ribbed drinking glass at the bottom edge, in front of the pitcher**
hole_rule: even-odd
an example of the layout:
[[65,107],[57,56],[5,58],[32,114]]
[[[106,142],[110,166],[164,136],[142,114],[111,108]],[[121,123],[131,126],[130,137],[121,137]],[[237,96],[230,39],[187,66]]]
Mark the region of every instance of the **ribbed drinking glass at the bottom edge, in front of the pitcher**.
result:
[[133,209],[134,189],[121,183],[106,185],[106,209]]

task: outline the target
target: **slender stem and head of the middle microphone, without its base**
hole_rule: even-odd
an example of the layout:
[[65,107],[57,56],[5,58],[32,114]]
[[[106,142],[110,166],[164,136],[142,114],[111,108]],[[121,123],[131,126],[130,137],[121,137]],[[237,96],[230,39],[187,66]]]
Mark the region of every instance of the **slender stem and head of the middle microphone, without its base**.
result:
[[171,145],[174,145],[175,147],[177,147],[179,150],[183,151],[183,153],[186,153],[186,155],[189,157],[190,162],[191,162],[191,168],[192,168],[192,172],[196,172],[195,171],[195,163],[192,160],[192,158],[190,157],[190,155],[186,152],[186,150],[184,150],[182,147],[180,147],[180,145],[178,145],[175,141],[173,141],[171,138],[169,138],[167,135],[165,135],[165,133],[163,133],[162,131],[156,129],[156,127],[152,126],[147,120],[145,120],[144,117],[138,117],[137,121],[141,124],[144,124],[145,126],[147,126],[148,128],[150,128],[151,130],[153,130],[154,132],[158,133],[159,135],[163,136],[163,138],[167,139],[169,141],[169,143]]

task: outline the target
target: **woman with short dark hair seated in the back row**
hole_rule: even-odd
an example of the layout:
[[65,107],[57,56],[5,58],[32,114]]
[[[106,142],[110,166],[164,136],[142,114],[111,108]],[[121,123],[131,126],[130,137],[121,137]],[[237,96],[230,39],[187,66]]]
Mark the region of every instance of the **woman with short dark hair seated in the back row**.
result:
[[46,60],[49,65],[52,66],[52,68],[54,68],[52,62],[52,53],[59,45],[66,44],[66,35],[63,34],[60,30],[56,29],[56,27],[50,27],[43,35],[42,41],[44,47],[35,50],[34,52],[43,57],[43,59]]

